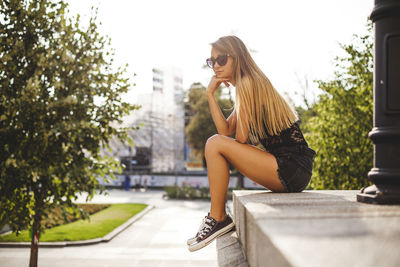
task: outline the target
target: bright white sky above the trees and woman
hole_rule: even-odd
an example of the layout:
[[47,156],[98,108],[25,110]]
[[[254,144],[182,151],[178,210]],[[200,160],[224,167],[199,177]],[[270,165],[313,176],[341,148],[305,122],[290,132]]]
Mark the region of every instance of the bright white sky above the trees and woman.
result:
[[[340,44],[367,32],[373,0],[67,0],[70,14],[83,21],[98,8],[99,32],[111,38],[115,66],[129,64],[136,83],[127,95],[134,103],[152,90],[154,67],[181,70],[183,87],[207,85],[213,72],[204,69],[210,43],[238,36],[275,88],[303,105],[301,94],[315,100],[314,80],[333,77]],[[133,76],[136,73],[137,76]]]

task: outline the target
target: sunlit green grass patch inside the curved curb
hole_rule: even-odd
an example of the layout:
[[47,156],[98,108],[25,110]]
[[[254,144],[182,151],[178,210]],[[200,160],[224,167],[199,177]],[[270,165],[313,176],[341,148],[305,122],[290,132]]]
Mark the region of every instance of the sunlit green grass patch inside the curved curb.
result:
[[[146,208],[145,204],[112,204],[110,207],[90,216],[88,220],[78,220],[69,224],[46,229],[40,241],[78,241],[103,237],[116,227],[120,226],[135,214]],[[22,231],[18,236],[15,233],[0,236],[4,242],[31,242],[29,232]]]

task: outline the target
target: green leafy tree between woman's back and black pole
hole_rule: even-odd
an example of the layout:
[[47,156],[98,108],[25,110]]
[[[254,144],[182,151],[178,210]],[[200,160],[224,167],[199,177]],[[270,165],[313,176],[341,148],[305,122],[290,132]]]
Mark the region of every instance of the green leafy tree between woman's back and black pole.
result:
[[312,107],[313,116],[304,123],[309,145],[316,150],[314,189],[359,189],[367,186],[372,167],[373,57],[369,34],[355,36],[342,45],[346,56],[335,59],[335,77],[317,81],[323,93]]

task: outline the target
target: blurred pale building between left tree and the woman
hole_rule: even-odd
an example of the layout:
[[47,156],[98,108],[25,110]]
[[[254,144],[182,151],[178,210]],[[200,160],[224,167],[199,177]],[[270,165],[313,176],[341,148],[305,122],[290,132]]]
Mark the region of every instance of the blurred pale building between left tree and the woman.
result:
[[134,110],[122,127],[130,131],[134,146],[113,140],[111,152],[125,166],[124,174],[178,173],[185,169],[184,92],[181,71],[174,67],[153,68],[153,90],[139,94]]

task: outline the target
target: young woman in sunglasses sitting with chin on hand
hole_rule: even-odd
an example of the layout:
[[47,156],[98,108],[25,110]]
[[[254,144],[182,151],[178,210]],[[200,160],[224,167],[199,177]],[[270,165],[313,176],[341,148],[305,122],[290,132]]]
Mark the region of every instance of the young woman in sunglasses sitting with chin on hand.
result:
[[[218,130],[205,147],[211,210],[196,236],[187,241],[190,251],[234,227],[225,212],[228,162],[272,192],[301,192],[311,179],[315,155],[303,137],[295,111],[256,65],[243,42],[236,36],[225,36],[211,46],[207,64],[215,75],[207,97]],[[222,83],[236,87],[235,108],[228,119],[214,98]],[[230,137],[233,134],[235,138]]]

